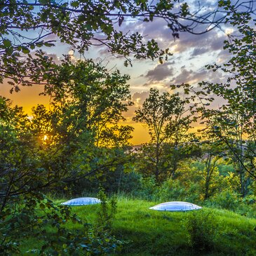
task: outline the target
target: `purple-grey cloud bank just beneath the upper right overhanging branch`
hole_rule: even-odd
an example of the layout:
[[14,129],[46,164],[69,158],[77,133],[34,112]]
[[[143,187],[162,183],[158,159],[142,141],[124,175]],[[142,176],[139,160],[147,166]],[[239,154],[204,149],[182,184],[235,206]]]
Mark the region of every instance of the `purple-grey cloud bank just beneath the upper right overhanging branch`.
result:
[[[213,1],[191,1],[189,5],[192,12],[197,12],[197,16],[206,15],[207,13],[213,12],[213,16],[208,17],[209,19],[216,19],[214,16],[214,10],[217,8],[217,3]],[[223,13],[215,15],[223,15]],[[182,21],[184,25],[189,25],[186,20]],[[187,22],[187,23],[186,23]],[[190,21],[189,21],[190,22]],[[193,32],[202,32],[207,29],[208,25],[198,25],[194,28]],[[227,39],[224,32],[220,32],[219,29],[213,29],[212,31],[206,32],[205,34],[190,34],[188,32],[180,32],[180,39],[173,39],[173,32],[168,27],[166,20],[154,18],[153,22],[142,22],[137,21],[128,23],[125,27],[127,31],[134,32],[138,31],[144,36],[144,41],[149,39],[155,39],[161,48],[170,48],[175,53],[184,53],[185,51],[192,50],[193,57],[206,53],[207,51],[215,51],[222,49],[223,41]],[[175,49],[172,49],[175,46]]]

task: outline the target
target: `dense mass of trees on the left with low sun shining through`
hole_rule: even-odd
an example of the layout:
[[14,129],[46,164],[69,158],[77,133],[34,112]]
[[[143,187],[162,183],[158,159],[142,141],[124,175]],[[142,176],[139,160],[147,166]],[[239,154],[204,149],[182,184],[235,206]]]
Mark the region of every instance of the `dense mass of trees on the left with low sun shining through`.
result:
[[[129,98],[127,76],[121,76],[119,72],[109,75],[106,69],[94,65],[91,61],[73,65],[67,60],[62,63],[60,70],[55,72],[55,86],[47,88],[48,93],[53,96],[52,109],[47,110],[42,105],[34,107],[30,121],[22,109],[12,109],[5,103],[5,99],[2,100],[3,111],[6,108],[2,116],[8,117],[1,119],[1,163],[5,168],[8,167],[8,173],[11,175],[10,161],[17,161],[12,165],[16,169],[18,166],[21,168],[18,172],[22,173],[22,177],[30,177],[29,180],[35,189],[53,183],[77,180],[107,168],[113,169],[121,162],[123,165],[126,155],[123,149],[118,147],[128,144],[128,134],[131,132],[130,128],[122,126],[120,134],[119,128],[116,128],[116,135],[112,137],[115,137],[114,140],[119,144],[113,143],[112,149],[96,147],[105,137],[102,131],[108,129],[109,124],[116,126],[123,120],[122,112],[130,105],[125,102]],[[86,79],[92,79],[94,83],[89,83]],[[13,129],[13,133],[8,133],[10,129]],[[122,130],[126,130],[127,135],[123,138]],[[5,134],[12,135],[12,138],[7,140]],[[15,175],[18,176],[18,172],[16,171]],[[2,177],[5,178],[6,173]],[[12,180],[11,177],[9,179]],[[40,180],[41,183],[35,180]],[[17,182],[22,182],[22,179]],[[28,186],[28,181],[25,182]],[[8,187],[8,182],[6,186]]]

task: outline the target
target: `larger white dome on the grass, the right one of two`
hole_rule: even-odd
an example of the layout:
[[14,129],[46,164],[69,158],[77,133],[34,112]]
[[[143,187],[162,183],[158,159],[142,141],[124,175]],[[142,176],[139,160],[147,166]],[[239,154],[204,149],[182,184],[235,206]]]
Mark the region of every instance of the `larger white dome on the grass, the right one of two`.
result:
[[159,203],[156,206],[152,206],[151,210],[166,210],[168,212],[185,212],[187,210],[199,210],[201,206],[196,206],[194,203],[173,201],[166,203]]

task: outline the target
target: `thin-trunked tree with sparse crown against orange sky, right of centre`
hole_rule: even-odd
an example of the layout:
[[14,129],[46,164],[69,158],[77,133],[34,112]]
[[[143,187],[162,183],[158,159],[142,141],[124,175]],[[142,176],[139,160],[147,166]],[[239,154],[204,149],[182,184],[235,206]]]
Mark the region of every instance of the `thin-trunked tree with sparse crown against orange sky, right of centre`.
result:
[[[145,123],[149,128],[151,144],[142,147],[142,158],[143,154],[146,155],[146,161],[151,165],[149,168],[154,168],[151,174],[155,175],[157,182],[174,175],[177,162],[184,157],[182,153],[185,155],[182,152],[185,142],[194,138],[188,133],[192,120],[191,114],[186,114],[186,101],[180,98],[179,93],[160,95],[159,90],[151,88],[142,108],[135,111],[133,120]],[[168,169],[169,172],[165,172]]]

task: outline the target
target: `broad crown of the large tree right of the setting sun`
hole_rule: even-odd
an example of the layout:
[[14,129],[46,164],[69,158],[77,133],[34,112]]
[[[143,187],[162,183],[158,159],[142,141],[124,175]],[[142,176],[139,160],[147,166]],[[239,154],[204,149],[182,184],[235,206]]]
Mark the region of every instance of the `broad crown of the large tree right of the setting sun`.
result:
[[[123,140],[126,144],[133,128],[119,128],[117,124],[125,121],[123,112],[133,105],[128,79],[128,75],[121,75],[118,70],[109,74],[105,67],[92,60],[73,63],[67,57],[48,76],[44,93],[51,96],[54,112],[62,113],[62,126],[65,124],[67,130],[90,131],[97,145],[103,140],[106,142],[105,136],[109,137],[110,133],[111,140],[115,140],[115,134],[122,133],[119,139],[126,138]],[[69,123],[65,123],[65,119]]]

